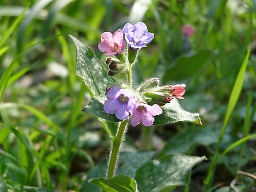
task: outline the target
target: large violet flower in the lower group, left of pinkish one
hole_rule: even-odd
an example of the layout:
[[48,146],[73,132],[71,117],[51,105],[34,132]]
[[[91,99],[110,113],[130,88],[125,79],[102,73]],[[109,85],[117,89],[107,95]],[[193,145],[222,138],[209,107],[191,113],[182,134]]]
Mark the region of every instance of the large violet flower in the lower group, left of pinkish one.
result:
[[106,97],[108,100],[104,103],[104,111],[115,114],[115,117],[120,120],[128,118],[137,102],[133,92],[128,89],[120,89],[117,86],[111,87]]

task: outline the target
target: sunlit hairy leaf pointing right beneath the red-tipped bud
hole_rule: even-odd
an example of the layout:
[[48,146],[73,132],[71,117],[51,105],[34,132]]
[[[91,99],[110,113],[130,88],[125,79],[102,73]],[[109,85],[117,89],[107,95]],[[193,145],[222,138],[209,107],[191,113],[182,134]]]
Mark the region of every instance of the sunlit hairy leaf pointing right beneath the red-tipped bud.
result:
[[163,113],[154,117],[154,125],[176,123],[176,122],[193,122],[201,125],[199,113],[190,113],[181,108],[178,100],[173,98],[171,103],[161,107]]

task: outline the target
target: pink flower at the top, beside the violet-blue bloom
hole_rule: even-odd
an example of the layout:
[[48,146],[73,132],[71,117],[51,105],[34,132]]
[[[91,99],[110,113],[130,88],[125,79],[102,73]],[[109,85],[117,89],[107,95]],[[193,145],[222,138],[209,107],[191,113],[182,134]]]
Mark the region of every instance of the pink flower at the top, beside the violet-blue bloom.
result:
[[105,55],[116,55],[124,52],[125,41],[123,31],[121,29],[115,31],[114,35],[110,32],[104,32],[101,35],[101,43],[98,48],[105,52]]

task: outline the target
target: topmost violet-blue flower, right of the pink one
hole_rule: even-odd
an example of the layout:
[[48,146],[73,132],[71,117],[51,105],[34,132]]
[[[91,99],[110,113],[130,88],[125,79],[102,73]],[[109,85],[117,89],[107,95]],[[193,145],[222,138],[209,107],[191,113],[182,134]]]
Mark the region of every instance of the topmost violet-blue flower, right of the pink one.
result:
[[132,48],[144,48],[154,38],[154,33],[147,32],[147,26],[143,22],[137,22],[134,26],[126,23],[123,29],[126,42]]

